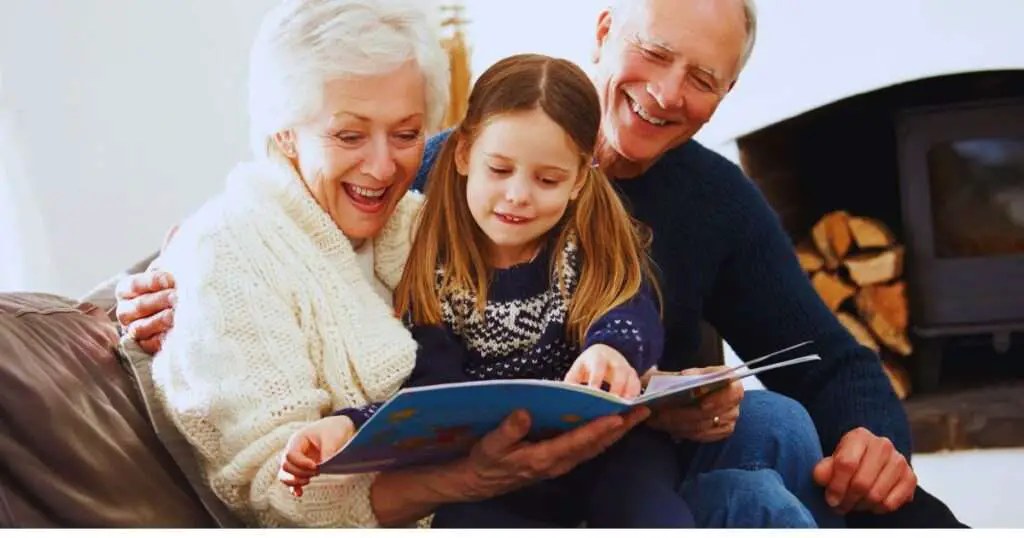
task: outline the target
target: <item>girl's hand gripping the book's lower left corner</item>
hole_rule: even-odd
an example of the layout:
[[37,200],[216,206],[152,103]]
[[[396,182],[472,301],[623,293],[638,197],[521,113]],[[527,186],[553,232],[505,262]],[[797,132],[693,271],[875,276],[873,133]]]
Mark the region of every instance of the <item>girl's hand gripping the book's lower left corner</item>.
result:
[[278,480],[302,496],[302,488],[319,474],[325,457],[333,456],[355,434],[355,424],[346,416],[322,418],[296,431],[285,446]]

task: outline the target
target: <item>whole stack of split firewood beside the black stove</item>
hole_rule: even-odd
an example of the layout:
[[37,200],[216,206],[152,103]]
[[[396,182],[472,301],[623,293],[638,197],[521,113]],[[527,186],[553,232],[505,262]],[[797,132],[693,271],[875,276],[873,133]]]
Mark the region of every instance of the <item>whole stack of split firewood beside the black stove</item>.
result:
[[907,337],[903,246],[885,223],[833,211],[797,244],[800,265],[840,323],[877,354],[897,396],[910,379],[900,364],[913,353]]

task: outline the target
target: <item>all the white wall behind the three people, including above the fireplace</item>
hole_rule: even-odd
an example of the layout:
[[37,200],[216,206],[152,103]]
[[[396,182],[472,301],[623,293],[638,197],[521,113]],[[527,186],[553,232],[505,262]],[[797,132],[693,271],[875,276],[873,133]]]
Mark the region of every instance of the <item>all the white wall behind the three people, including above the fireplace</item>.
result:
[[[0,1],[3,97],[38,205],[22,209],[45,224],[23,265],[52,268],[23,271],[38,275],[34,289],[78,294],[151,252],[248,156],[246,56],[274,1]],[[523,51],[586,66],[606,3],[467,0],[474,74]],[[760,9],[754,58],[698,135],[733,158],[737,134],[839,94],[1024,67],[1021,0],[763,0]]]

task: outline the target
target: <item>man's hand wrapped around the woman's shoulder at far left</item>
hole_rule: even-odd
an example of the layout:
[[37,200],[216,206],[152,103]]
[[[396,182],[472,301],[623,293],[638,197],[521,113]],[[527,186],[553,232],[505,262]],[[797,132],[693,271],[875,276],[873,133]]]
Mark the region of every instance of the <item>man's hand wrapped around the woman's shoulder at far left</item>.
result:
[[156,355],[174,324],[174,278],[150,270],[118,282],[118,322],[145,353]]

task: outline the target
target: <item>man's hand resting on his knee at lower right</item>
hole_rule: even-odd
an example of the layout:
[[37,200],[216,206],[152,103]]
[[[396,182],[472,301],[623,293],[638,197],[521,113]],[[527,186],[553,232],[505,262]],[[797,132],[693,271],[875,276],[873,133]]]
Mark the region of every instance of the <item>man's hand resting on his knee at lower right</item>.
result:
[[814,467],[825,502],[840,513],[891,512],[913,499],[918,475],[887,438],[863,427],[847,432],[836,452]]

